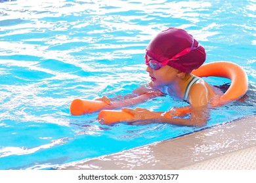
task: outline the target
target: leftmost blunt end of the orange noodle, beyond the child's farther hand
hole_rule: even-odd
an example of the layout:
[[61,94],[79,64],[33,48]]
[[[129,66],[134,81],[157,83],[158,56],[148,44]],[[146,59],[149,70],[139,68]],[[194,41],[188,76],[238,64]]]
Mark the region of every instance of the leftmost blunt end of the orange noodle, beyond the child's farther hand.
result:
[[104,101],[74,99],[70,105],[70,113],[74,116],[79,116],[96,112],[106,105],[107,103]]

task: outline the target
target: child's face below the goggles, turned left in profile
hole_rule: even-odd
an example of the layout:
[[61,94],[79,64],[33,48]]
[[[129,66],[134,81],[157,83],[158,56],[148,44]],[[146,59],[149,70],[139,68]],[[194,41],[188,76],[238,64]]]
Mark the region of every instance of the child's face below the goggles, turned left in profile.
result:
[[[150,61],[150,56],[146,56],[148,61]],[[169,65],[165,65],[158,70],[152,69],[150,66],[146,68],[146,71],[149,73],[152,86],[154,87],[161,87],[161,86],[169,86],[175,83],[177,80],[177,73],[178,70],[170,67]]]

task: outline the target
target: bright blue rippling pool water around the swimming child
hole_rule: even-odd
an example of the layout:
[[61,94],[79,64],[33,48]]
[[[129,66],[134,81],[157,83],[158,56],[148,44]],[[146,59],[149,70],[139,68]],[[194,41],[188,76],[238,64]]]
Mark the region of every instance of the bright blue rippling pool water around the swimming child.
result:
[[[206,63],[232,61],[249,77],[245,97],[212,110],[207,127],[255,115],[255,11],[255,0],[0,1],[0,169],[47,169],[200,130],[70,115],[75,98],[125,95],[149,82],[144,48],[167,27],[194,35]],[[182,105],[161,97],[137,107]]]

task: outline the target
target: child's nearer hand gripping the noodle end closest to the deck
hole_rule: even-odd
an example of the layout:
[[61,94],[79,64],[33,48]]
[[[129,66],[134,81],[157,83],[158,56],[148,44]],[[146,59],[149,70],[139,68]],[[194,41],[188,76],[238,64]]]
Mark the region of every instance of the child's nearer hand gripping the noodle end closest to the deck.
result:
[[133,122],[133,124],[150,124],[158,120],[159,115],[150,112],[146,108],[122,108],[123,111],[133,114],[133,118],[125,119],[125,122]]

